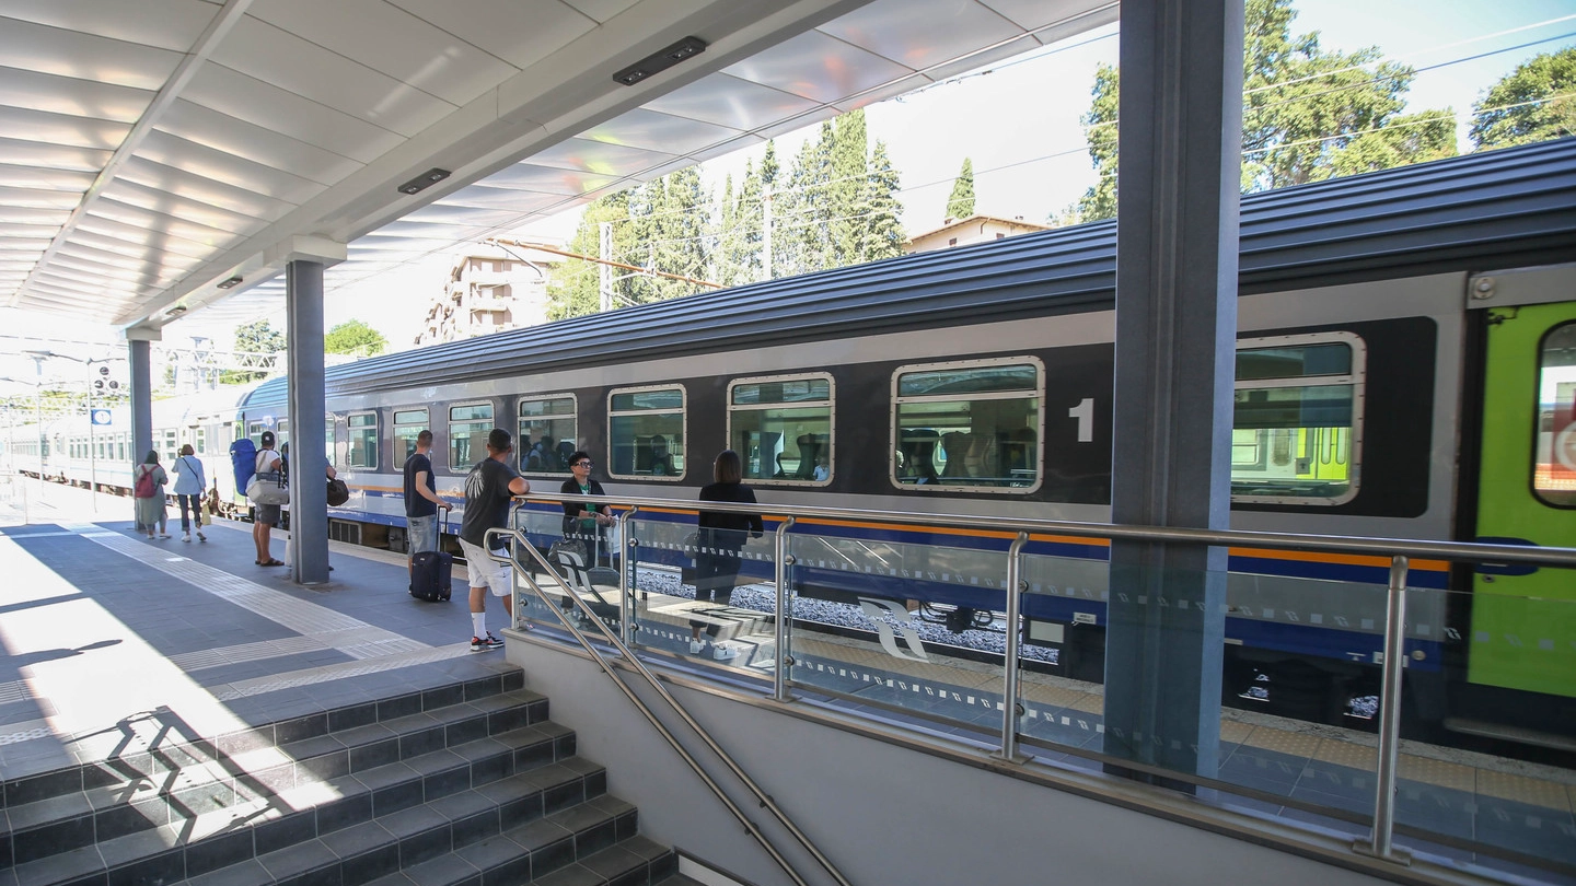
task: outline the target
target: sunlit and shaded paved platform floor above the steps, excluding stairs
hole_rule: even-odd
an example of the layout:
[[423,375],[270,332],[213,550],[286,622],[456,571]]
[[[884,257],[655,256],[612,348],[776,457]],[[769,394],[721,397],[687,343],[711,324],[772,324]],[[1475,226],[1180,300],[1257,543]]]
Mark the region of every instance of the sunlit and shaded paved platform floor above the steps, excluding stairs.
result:
[[514,670],[470,651],[463,571],[421,602],[403,555],[334,542],[333,580],[304,588],[254,563],[249,523],[148,541],[80,514],[0,503],[0,780]]

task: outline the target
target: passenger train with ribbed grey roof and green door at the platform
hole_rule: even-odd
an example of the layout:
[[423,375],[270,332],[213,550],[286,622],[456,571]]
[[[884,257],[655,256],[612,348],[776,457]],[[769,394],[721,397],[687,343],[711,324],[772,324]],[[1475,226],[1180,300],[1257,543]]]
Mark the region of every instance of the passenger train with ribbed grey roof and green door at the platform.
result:
[[[1573,262],[1576,139],[1245,195],[1232,528],[1576,547]],[[331,367],[323,434],[351,489],[331,528],[400,545],[400,467],[422,429],[440,490],[492,427],[517,435],[537,489],[585,449],[615,500],[693,500],[731,448],[768,512],[980,517],[947,533],[801,522],[824,557],[794,566],[797,593],[999,624],[1010,534],[993,517],[1111,517],[1114,281],[1114,222],[1094,222]],[[241,393],[230,424],[287,440],[285,382]],[[875,549],[905,568],[860,569]],[[1037,536],[1026,552],[1024,642],[1098,681],[1108,545]],[[1388,563],[1229,555],[1226,702],[1362,725]],[[1407,730],[1568,746],[1576,580],[1423,561],[1411,586]]]

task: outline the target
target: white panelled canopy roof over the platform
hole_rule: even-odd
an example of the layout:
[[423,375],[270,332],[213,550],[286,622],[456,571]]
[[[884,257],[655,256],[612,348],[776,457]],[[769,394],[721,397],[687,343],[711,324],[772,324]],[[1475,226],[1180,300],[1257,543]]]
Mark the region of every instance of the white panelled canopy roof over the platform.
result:
[[[0,304],[153,334],[251,318],[292,255],[326,259],[331,295],[1114,19],[1100,0],[0,0]],[[615,80],[686,38],[703,52]],[[448,175],[400,191],[429,170]]]

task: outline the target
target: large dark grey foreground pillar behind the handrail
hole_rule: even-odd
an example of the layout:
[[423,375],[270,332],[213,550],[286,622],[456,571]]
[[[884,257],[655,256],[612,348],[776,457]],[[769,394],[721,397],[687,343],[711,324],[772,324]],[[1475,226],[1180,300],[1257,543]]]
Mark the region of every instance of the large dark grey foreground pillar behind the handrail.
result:
[[[1122,5],[1111,512],[1228,528],[1242,0]],[[1105,750],[1215,776],[1221,549],[1111,545]]]

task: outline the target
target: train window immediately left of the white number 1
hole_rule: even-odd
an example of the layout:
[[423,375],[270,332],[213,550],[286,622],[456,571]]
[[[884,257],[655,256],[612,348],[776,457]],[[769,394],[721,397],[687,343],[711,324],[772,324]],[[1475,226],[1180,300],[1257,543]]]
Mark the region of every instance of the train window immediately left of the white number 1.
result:
[[1034,358],[905,366],[892,375],[892,482],[1032,492],[1045,367]]

